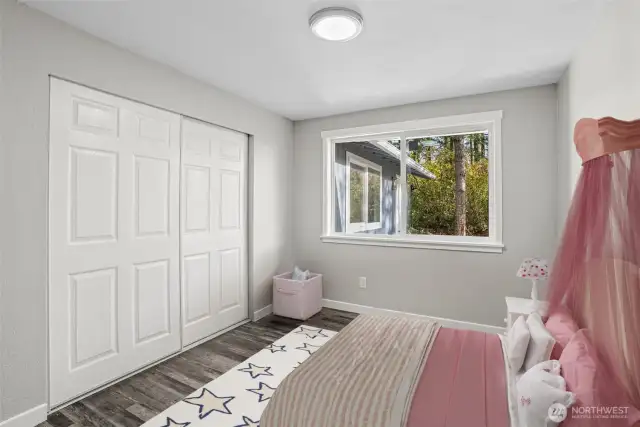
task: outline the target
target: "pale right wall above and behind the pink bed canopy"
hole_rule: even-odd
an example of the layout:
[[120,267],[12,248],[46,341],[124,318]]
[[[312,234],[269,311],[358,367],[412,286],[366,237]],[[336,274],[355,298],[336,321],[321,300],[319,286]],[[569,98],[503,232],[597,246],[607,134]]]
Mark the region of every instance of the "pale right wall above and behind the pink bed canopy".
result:
[[558,84],[558,224],[562,228],[581,161],[573,128],[583,117],[640,118],[640,2],[610,2]]

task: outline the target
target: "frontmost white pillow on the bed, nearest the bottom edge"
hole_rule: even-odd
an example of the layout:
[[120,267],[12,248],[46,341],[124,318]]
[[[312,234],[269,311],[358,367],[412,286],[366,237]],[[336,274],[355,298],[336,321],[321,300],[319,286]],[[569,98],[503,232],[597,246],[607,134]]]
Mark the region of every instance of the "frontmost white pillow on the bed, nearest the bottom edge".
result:
[[518,381],[518,418],[520,427],[549,427],[549,408],[561,404],[569,408],[575,402],[560,376],[560,362],[547,360],[529,369]]

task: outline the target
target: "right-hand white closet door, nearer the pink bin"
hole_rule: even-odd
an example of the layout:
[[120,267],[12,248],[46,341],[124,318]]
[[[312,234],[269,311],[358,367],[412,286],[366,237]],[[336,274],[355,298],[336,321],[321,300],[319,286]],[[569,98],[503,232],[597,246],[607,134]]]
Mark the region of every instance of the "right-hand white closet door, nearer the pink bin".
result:
[[248,318],[247,135],[182,120],[182,319],[188,345]]

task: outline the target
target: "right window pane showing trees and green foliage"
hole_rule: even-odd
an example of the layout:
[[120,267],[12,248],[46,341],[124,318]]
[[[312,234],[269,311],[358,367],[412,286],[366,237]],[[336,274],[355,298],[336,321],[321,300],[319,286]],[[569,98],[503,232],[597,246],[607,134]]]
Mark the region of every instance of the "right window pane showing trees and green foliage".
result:
[[489,235],[489,137],[407,139],[407,233]]

